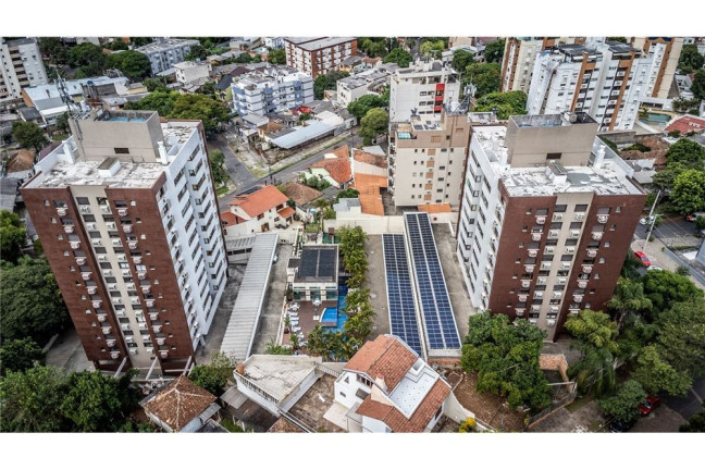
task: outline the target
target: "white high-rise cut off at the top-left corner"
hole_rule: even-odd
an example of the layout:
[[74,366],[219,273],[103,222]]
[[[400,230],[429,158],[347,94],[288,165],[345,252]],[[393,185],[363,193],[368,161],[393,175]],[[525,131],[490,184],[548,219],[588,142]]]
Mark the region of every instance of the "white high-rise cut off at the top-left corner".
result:
[[36,39],[0,37],[0,102],[22,98],[23,88],[47,83]]

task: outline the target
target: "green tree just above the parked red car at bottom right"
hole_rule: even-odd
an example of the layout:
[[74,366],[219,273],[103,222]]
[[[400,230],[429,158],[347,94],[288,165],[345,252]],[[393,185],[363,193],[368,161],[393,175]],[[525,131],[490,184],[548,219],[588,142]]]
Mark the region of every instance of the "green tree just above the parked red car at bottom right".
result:
[[666,392],[672,396],[685,395],[693,385],[693,380],[688,373],[678,371],[660,357],[658,346],[643,348],[636,364],[632,378],[638,380],[650,394]]

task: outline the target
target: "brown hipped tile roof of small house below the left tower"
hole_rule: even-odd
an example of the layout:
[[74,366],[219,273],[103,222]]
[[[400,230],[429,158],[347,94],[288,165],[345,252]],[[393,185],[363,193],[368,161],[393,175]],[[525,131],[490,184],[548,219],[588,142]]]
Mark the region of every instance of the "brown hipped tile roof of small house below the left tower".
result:
[[143,408],[176,432],[198,418],[215,399],[214,395],[180,375],[148,398]]

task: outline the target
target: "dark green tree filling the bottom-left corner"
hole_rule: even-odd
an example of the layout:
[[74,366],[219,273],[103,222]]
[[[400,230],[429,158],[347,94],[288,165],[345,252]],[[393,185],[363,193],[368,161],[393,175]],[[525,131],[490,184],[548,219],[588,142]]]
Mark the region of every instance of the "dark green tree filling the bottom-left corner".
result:
[[0,379],[0,431],[66,431],[61,404],[67,389],[65,375],[51,367],[8,372]]

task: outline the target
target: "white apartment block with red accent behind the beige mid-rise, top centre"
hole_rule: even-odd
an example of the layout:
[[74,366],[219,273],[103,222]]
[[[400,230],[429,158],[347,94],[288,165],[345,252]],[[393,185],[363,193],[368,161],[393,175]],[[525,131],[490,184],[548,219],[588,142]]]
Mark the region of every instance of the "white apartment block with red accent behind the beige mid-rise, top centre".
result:
[[443,104],[458,101],[460,81],[450,65],[417,61],[392,75],[389,122],[404,122],[411,114],[441,114]]

